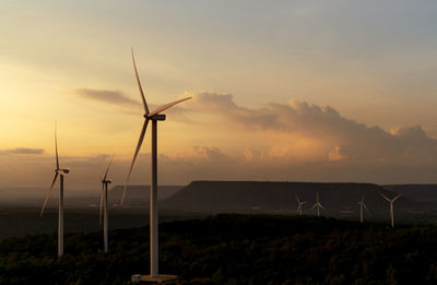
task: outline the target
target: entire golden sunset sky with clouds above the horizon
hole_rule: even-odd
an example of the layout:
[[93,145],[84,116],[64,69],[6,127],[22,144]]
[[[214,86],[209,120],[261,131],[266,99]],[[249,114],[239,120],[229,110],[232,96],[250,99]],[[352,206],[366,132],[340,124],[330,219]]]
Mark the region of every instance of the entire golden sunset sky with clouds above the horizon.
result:
[[[149,104],[158,182],[437,183],[435,1],[2,1],[0,187],[48,187],[58,124],[73,189],[115,154],[122,185]],[[25,176],[25,178],[23,178]],[[150,130],[131,182],[150,182]]]

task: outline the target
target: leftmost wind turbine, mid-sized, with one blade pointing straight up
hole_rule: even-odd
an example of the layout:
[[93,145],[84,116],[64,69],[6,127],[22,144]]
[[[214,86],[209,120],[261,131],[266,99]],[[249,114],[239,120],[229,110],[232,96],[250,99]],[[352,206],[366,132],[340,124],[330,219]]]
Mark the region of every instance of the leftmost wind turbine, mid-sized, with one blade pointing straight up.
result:
[[56,169],[54,181],[51,182],[50,188],[46,193],[46,199],[44,200],[43,209],[40,211],[39,216],[43,216],[44,209],[46,207],[47,201],[50,197],[51,190],[54,189],[56,179],[60,176],[60,186],[59,186],[59,210],[58,210],[58,257],[62,257],[63,254],[63,176],[70,173],[68,168],[60,168],[59,166],[59,155],[58,155],[58,138],[57,138],[57,128],[55,123],[55,150],[56,150]]

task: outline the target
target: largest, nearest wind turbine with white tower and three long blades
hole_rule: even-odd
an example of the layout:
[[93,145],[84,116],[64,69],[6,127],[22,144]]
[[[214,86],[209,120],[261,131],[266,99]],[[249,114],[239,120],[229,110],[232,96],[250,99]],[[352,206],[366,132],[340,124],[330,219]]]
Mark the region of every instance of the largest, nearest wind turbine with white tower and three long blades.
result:
[[132,163],[129,168],[128,177],[126,178],[125,189],[121,197],[121,205],[125,201],[126,190],[128,187],[130,174],[132,171],[133,165],[137,161],[138,153],[140,152],[141,144],[144,140],[145,130],[147,129],[149,121],[152,121],[152,185],[151,185],[151,198],[150,198],[150,254],[151,254],[151,277],[158,276],[158,240],[157,240],[157,121],[164,121],[165,115],[161,112],[168,109],[169,107],[179,104],[184,100],[188,100],[191,97],[178,99],[165,105],[157,107],[155,110],[150,111],[147,103],[145,102],[143,88],[141,87],[140,78],[138,75],[135,58],[132,52],[133,70],[135,71],[135,79],[138,83],[138,88],[140,90],[141,99],[144,107],[144,123],[141,129],[140,139],[138,140],[137,149],[133,154]]

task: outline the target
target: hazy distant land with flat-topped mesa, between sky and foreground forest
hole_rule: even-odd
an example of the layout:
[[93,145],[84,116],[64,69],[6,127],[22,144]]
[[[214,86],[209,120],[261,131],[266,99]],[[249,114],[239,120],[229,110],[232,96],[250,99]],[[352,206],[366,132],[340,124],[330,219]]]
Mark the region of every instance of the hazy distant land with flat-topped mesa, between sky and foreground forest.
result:
[[[122,186],[108,192],[109,228],[149,225],[149,186],[129,186],[125,205]],[[28,234],[50,234],[56,230],[57,191],[38,216],[46,189],[0,189],[0,239]],[[66,192],[66,233],[96,231],[98,225],[99,189]],[[263,181],[193,181],[186,187],[158,188],[160,221],[202,217],[216,213],[296,214],[297,194],[305,215],[316,215],[309,209],[319,192],[324,206],[322,215],[358,221],[362,198],[370,210],[365,222],[388,223],[389,205],[379,195],[403,195],[394,204],[394,224],[430,224],[437,218],[437,186],[378,186],[374,183],[263,182]]]

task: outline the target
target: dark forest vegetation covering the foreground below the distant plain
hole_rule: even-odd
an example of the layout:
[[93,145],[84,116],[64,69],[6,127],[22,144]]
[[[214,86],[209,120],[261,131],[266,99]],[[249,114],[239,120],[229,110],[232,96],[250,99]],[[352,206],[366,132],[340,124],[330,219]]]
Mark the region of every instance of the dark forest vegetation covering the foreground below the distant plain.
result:
[[[0,284],[129,284],[149,273],[149,228],[0,241]],[[160,225],[160,270],[185,284],[437,284],[437,229],[333,218],[217,215]]]

